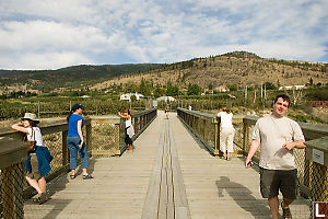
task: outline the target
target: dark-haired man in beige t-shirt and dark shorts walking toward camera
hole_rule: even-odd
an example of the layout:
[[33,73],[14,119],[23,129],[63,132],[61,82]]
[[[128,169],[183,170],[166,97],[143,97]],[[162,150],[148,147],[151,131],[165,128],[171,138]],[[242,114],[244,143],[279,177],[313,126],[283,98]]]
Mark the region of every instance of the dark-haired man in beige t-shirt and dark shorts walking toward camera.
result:
[[260,150],[260,191],[268,198],[273,219],[278,219],[279,191],[283,199],[281,205],[283,218],[292,218],[289,206],[296,199],[298,189],[297,170],[293,149],[305,148],[304,136],[300,125],[284,115],[288,113],[290,97],[278,95],[273,101],[271,115],[259,118],[254,127],[253,141],[245,166],[259,147]]

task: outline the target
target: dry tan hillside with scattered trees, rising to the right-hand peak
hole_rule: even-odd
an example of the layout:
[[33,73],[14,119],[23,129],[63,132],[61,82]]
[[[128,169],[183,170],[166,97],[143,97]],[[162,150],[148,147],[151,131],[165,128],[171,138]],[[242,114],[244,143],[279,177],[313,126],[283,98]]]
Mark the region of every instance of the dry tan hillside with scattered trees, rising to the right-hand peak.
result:
[[147,73],[118,77],[91,87],[106,89],[113,83],[120,84],[129,81],[140,82],[141,79],[165,85],[172,81],[179,88],[189,83],[208,88],[221,85],[259,85],[271,82],[274,85],[306,84],[311,78],[313,83],[328,83],[328,64],[312,64],[263,59],[255,54],[234,51],[209,58],[197,58],[188,61],[163,66]]

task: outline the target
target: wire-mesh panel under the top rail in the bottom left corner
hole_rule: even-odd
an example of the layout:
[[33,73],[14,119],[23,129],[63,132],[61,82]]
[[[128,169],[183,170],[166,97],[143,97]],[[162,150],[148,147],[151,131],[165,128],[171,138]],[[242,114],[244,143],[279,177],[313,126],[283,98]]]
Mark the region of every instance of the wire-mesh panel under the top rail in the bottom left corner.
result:
[[24,218],[23,163],[2,170],[3,218]]

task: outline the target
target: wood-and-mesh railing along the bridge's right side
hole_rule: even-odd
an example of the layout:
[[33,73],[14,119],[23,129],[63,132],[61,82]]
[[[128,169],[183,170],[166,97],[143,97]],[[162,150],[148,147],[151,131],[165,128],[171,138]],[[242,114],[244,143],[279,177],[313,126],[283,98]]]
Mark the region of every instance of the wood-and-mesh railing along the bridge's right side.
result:
[[[220,122],[213,114],[177,108],[180,120],[214,154],[219,155]],[[259,117],[233,118],[234,149],[248,154],[254,126]],[[328,126],[298,123],[305,137],[306,149],[294,150],[301,194],[313,201],[328,201]],[[253,157],[259,162],[260,148]]]

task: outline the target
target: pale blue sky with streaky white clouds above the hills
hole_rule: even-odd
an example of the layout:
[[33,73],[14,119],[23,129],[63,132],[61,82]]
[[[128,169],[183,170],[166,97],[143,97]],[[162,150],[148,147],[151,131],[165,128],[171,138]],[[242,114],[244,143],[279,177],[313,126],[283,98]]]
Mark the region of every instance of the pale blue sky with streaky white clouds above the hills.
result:
[[328,0],[0,0],[0,69],[172,64],[246,50],[328,62]]

